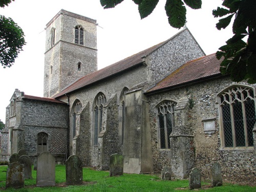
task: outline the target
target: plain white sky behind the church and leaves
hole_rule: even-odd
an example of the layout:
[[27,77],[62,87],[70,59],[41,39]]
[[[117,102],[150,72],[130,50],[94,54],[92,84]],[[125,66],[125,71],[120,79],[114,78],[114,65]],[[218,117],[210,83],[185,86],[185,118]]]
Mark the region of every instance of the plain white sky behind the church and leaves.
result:
[[[6,107],[15,91],[42,97],[44,89],[44,53],[46,24],[61,10],[97,20],[98,69],[111,65],[139,51],[162,42],[179,30],[169,26],[165,14],[166,0],[160,0],[153,13],[140,19],[137,5],[124,0],[114,9],[103,9],[100,0],[15,0],[0,14],[11,17],[25,33],[24,46],[14,66],[0,66],[0,119],[5,123]],[[208,55],[215,53],[232,37],[231,27],[217,30],[218,18],[212,10],[222,0],[202,0],[202,9],[187,8],[187,27]],[[103,29],[102,29],[103,28]]]

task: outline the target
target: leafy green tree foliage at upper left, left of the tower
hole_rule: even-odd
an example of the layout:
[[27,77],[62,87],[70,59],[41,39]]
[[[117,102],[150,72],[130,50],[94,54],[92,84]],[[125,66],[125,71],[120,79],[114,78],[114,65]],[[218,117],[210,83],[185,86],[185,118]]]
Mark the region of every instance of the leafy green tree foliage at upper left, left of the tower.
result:
[[[8,6],[14,0],[1,0],[0,7]],[[11,67],[26,44],[23,30],[11,19],[0,15],[0,63]]]

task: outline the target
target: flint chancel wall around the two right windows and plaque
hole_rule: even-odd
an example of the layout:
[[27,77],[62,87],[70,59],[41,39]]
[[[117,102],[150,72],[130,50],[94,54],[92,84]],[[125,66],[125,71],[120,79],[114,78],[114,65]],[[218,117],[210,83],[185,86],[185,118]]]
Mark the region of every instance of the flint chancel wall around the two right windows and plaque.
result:
[[[219,162],[222,167],[223,179],[241,183],[256,183],[255,149],[221,150],[219,111],[216,96],[225,88],[236,84],[228,77],[207,80],[186,88],[174,89],[165,93],[149,96],[150,122],[153,147],[154,172],[160,173],[161,167],[170,166],[170,150],[159,149],[156,105],[164,99],[178,100],[187,95],[193,99],[194,106],[188,109],[186,124],[193,130],[195,145],[195,166],[200,167],[202,178],[210,179],[210,165]],[[247,83],[240,83],[247,84]],[[254,84],[254,87],[256,85]],[[189,103],[188,103],[189,104]],[[204,133],[202,120],[215,118],[214,134]],[[255,141],[254,141],[255,142]],[[164,157],[164,158],[163,158]],[[239,176],[239,177],[238,177]]]

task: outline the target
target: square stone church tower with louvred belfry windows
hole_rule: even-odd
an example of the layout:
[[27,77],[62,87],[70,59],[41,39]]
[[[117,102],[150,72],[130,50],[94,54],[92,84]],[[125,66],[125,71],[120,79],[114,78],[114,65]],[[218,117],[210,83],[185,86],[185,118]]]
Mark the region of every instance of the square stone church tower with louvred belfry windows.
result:
[[46,25],[44,97],[97,70],[96,20],[61,10]]

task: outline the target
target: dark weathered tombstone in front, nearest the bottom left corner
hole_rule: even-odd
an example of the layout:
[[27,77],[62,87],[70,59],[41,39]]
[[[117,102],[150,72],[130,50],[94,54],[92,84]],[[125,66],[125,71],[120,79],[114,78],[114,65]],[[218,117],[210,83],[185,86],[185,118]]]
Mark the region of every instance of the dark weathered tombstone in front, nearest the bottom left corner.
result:
[[7,168],[5,188],[9,187],[24,187],[24,165],[17,161],[10,163]]

